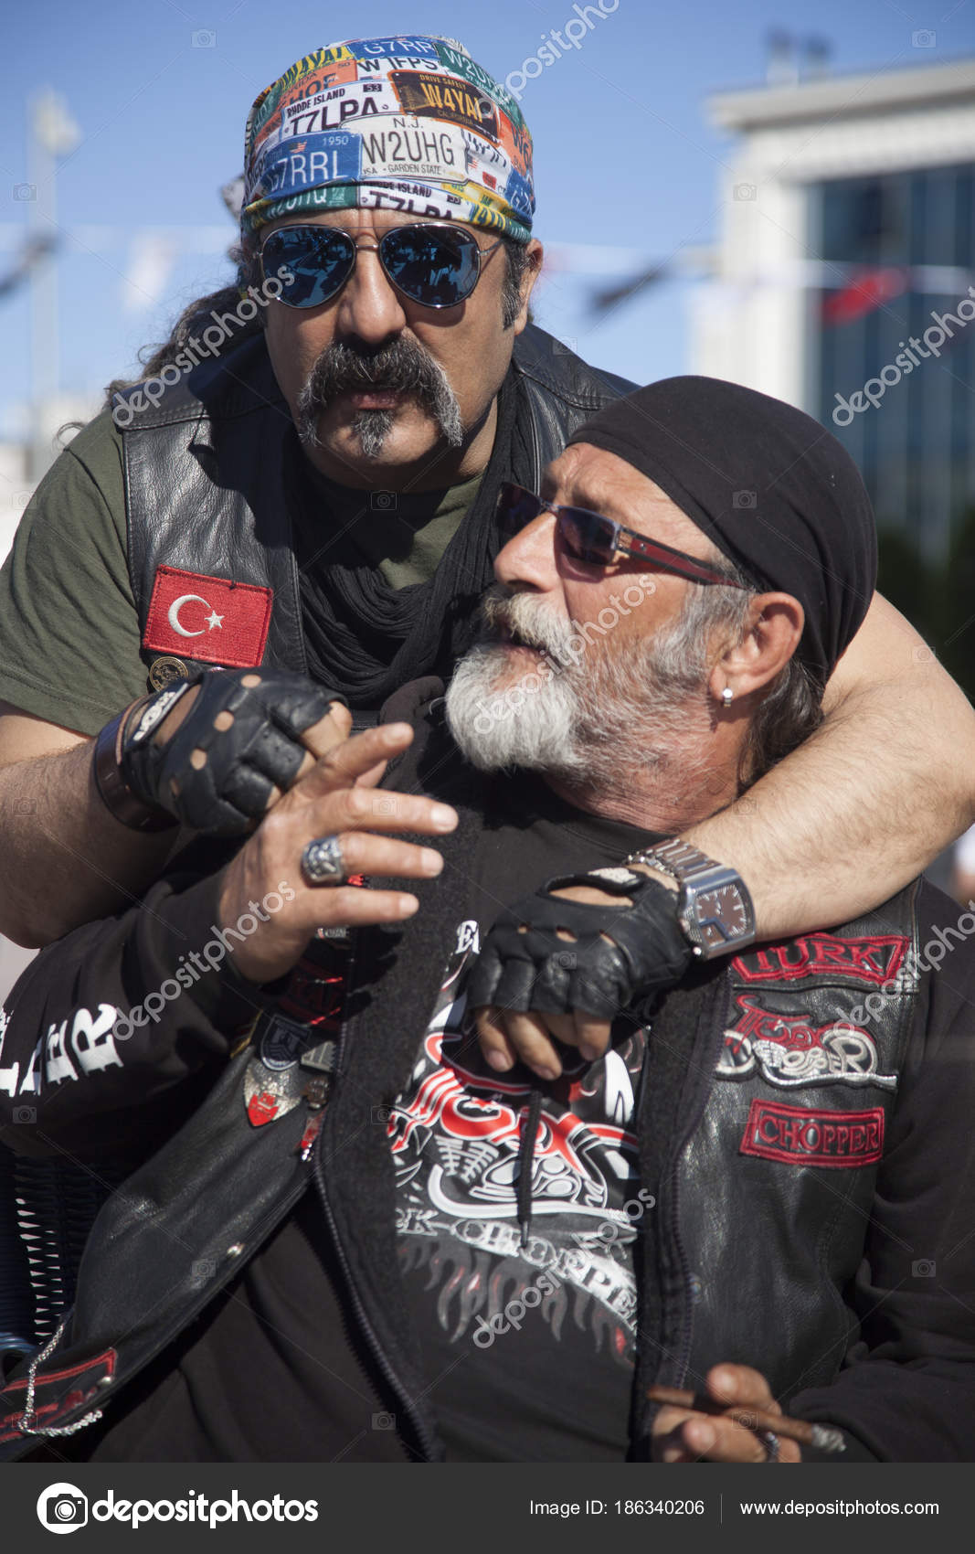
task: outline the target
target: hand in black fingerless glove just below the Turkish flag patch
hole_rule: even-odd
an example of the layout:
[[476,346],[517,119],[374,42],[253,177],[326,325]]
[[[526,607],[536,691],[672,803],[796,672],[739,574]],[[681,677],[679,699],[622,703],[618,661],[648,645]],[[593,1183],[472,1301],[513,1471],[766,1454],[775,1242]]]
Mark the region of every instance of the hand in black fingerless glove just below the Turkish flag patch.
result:
[[317,755],[348,733],[345,698],[303,674],[211,670],[129,718],[120,769],[132,793],[194,831],[250,830]]

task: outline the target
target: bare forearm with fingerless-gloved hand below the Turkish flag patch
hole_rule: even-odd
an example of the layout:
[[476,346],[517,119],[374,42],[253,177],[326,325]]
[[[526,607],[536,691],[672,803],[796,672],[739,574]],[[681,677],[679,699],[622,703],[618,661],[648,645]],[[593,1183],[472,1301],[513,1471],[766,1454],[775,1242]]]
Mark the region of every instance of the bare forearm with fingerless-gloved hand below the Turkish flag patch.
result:
[[9,881],[0,932],[31,948],[137,900],[193,834],[252,830],[349,727],[337,693],[300,674],[225,670],[166,687],[126,724],[120,760],[120,791],[135,797],[137,814],[172,817],[143,831],[106,807],[88,740],[0,709],[0,869]]

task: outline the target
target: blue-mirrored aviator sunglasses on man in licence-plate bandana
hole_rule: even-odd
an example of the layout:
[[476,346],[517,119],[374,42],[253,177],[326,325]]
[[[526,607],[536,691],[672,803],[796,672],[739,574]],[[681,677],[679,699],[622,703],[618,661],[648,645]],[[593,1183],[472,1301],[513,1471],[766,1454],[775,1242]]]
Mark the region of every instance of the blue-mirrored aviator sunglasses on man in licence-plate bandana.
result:
[[[455,308],[477,286],[481,261],[498,242],[478,247],[460,227],[415,222],[391,227],[377,244],[362,244],[379,255],[387,278],[424,308]],[[342,291],[356,269],[359,246],[338,227],[279,227],[261,247],[264,278],[287,269],[293,280],[279,297],[287,308],[320,308]]]

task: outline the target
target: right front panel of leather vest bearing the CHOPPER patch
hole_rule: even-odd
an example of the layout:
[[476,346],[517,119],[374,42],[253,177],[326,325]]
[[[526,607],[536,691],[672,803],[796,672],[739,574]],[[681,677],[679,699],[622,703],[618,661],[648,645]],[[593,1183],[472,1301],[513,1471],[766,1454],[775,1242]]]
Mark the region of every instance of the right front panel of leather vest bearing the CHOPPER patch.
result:
[[689,1377],[741,1361],[787,1408],[855,1340],[843,1291],[916,1015],[916,889],[728,967],[714,1080],[675,1183]]

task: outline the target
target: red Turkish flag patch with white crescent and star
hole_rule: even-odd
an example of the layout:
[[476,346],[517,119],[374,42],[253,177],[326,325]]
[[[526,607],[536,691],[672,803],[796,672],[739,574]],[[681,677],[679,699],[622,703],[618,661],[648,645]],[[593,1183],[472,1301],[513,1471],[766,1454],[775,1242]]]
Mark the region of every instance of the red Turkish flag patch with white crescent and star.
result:
[[256,668],[264,657],[273,598],[273,589],[255,583],[157,567],[143,646],[228,668]]

